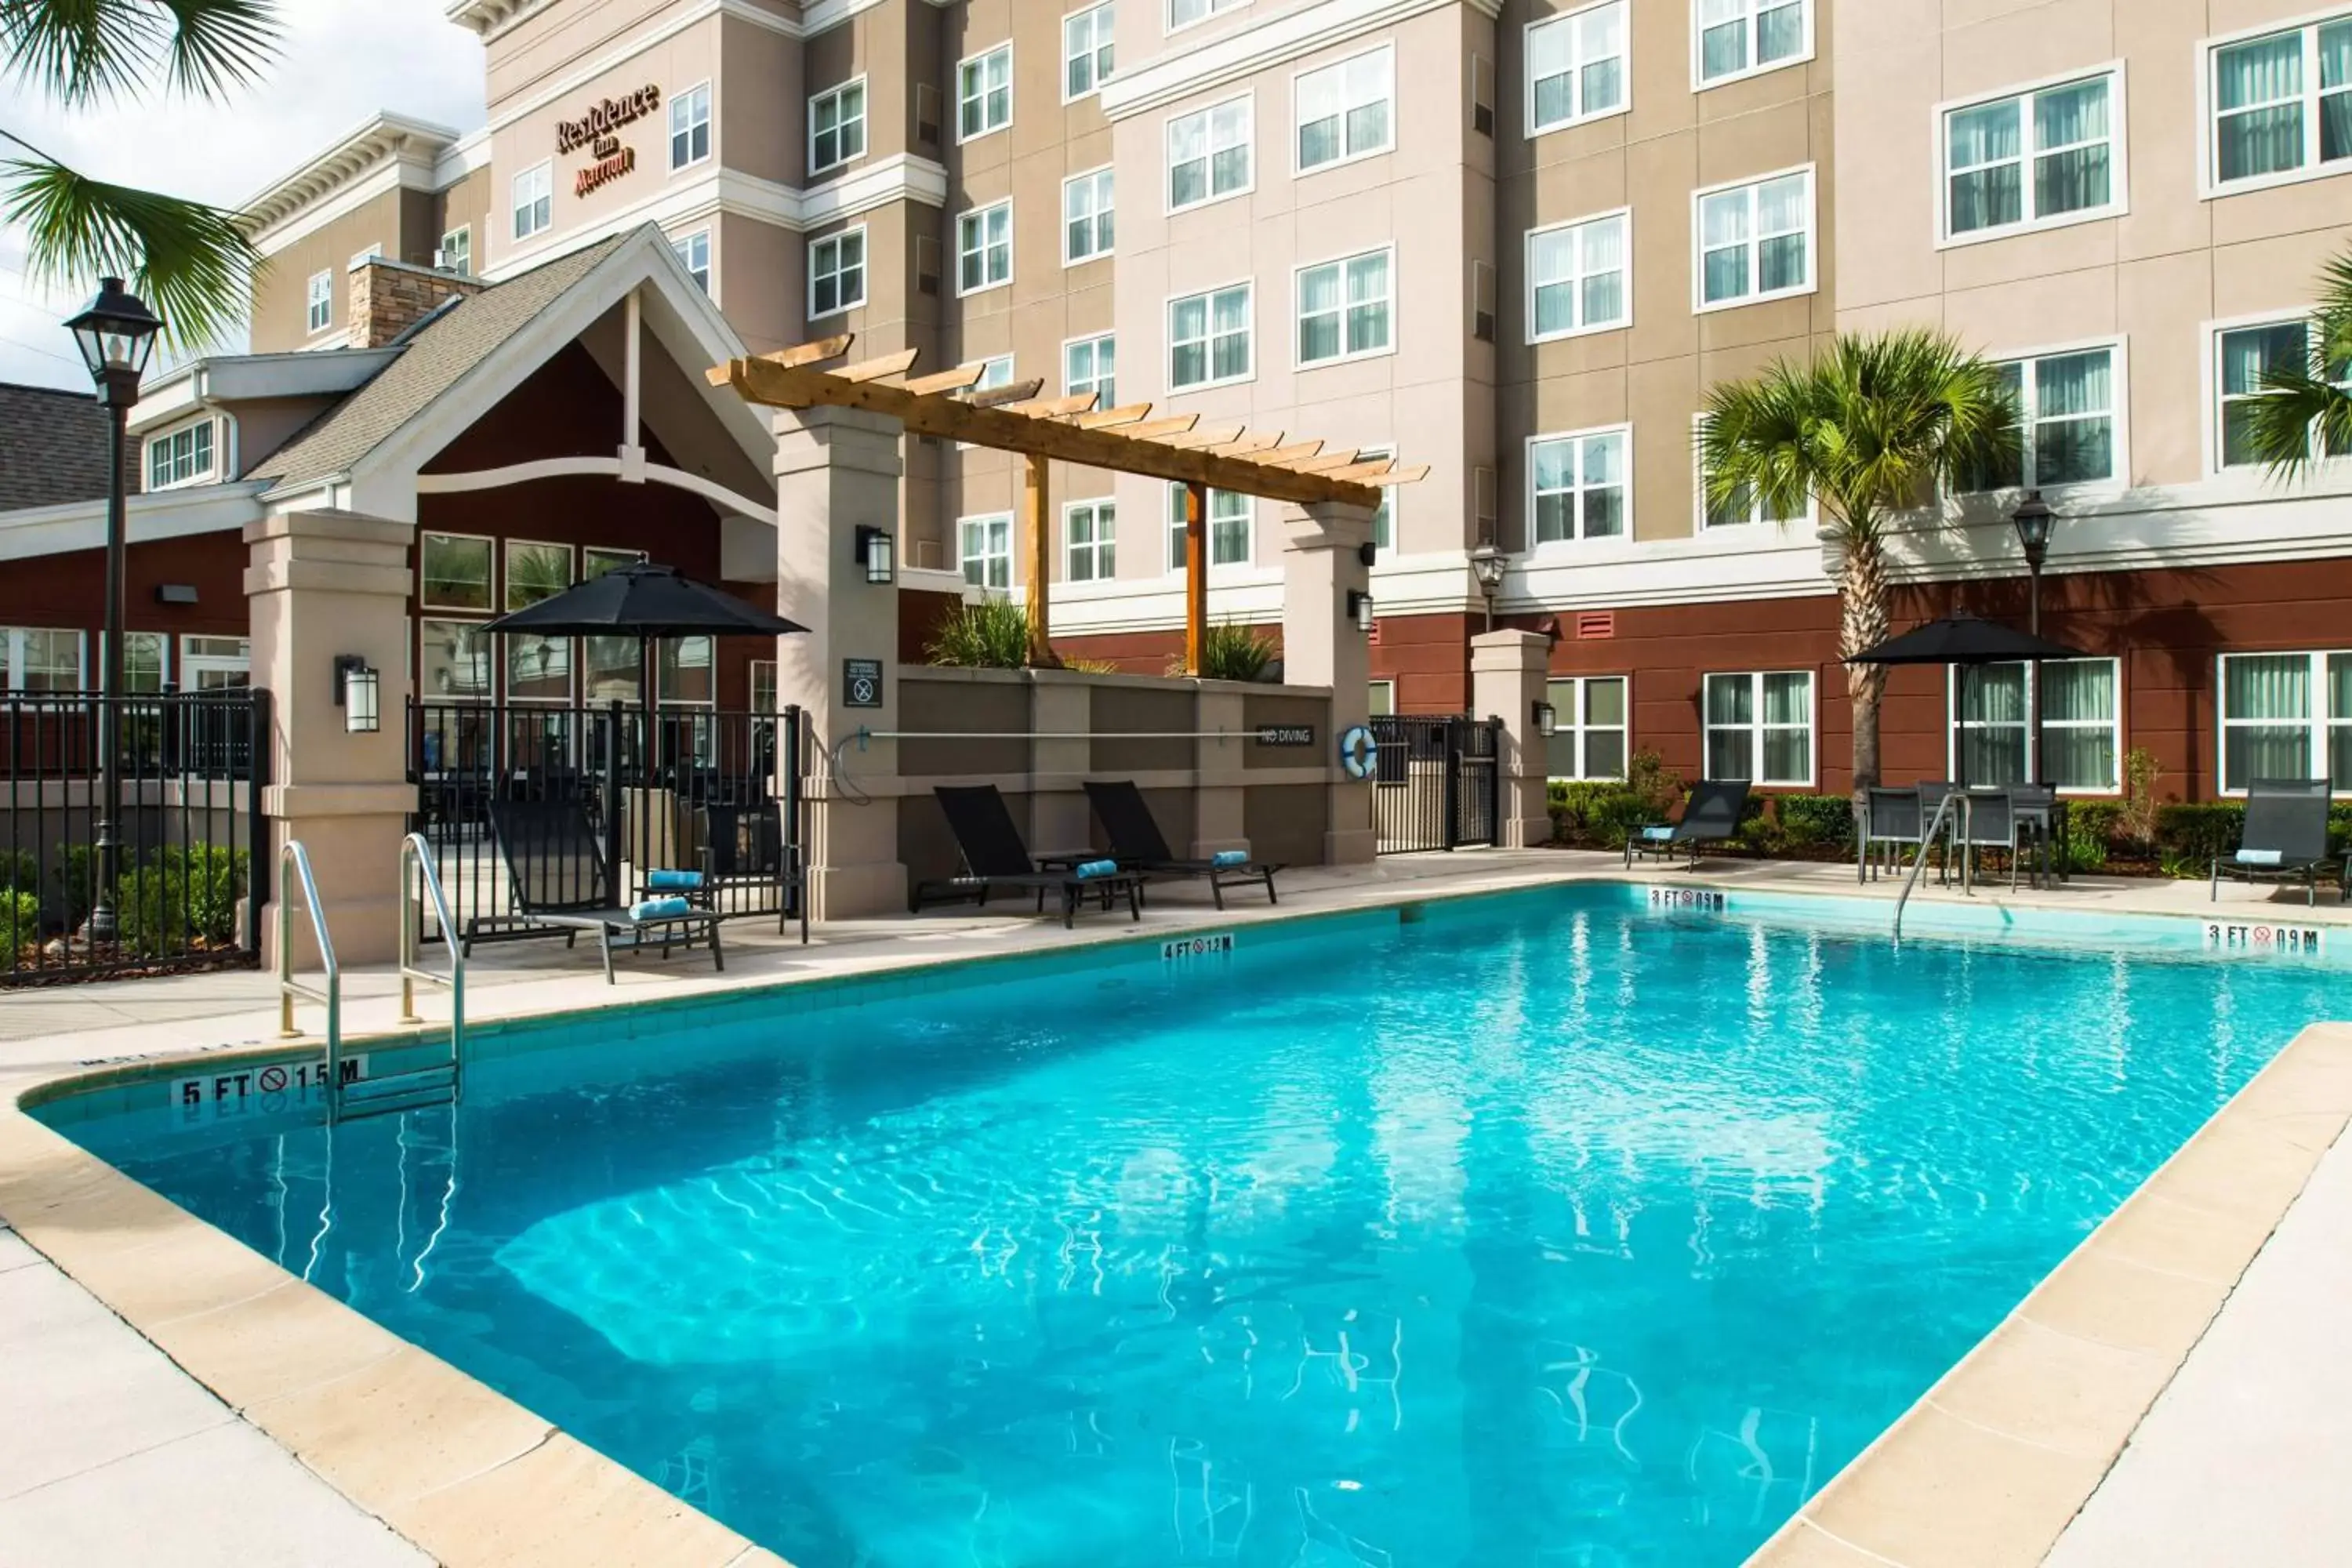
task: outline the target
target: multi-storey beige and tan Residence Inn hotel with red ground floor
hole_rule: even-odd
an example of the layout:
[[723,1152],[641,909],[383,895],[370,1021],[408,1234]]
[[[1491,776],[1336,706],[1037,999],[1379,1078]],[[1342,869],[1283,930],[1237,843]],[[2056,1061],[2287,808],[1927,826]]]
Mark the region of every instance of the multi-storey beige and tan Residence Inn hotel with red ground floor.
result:
[[[2352,5],[454,0],[449,19],[482,40],[487,125],[381,113],[247,205],[270,259],[254,355],[139,414],[143,480],[191,491],[148,524],[176,541],[148,576],[214,536],[200,512],[226,517],[223,491],[287,484],[270,454],[405,374],[419,322],[659,226],[755,353],[854,331],[861,357],[985,364],[981,388],[1430,463],[1381,520],[1376,703],[1461,710],[1491,616],[1555,635],[1557,776],[1658,750],[1686,776],[1844,792],[1835,559],[1811,515],[1710,510],[1693,421],[1712,383],[1835,331],[1931,324],[2009,367],[2027,447],[2013,484],[1903,527],[1903,614],[2023,618],[2009,512],[2037,487],[2063,517],[2044,630],[2086,654],[2046,672],[2039,715],[2023,670],[1985,677],[1971,776],[2020,776],[2039,733],[2042,771],[2084,795],[2114,792],[2133,748],[2164,795],[2319,771],[2352,792],[2352,470],[2284,489],[2239,433],[2352,247]],[[593,346],[560,376],[550,409],[614,402]],[[477,425],[468,465],[532,447],[529,423]],[[906,444],[908,592],[1023,590],[1014,463]],[[764,482],[722,458],[729,487]],[[1160,670],[1183,621],[1171,494],[1054,482],[1056,646]],[[449,691],[466,618],[513,602],[515,574],[652,550],[755,590],[762,524],[687,512],[529,487],[463,520],[409,505],[421,686]],[[12,534],[19,557],[89,562],[56,508],[0,515]],[[1508,557],[1494,597],[1482,548]],[[1277,550],[1272,508],[1211,496],[1214,618],[1279,621]],[[38,604],[5,614],[9,649],[42,635]],[[195,635],[141,635],[167,632]],[[680,691],[771,701],[760,679]],[[487,665],[456,689],[581,696]],[[1957,717],[1945,672],[1898,672],[1889,776],[1950,776]]]

